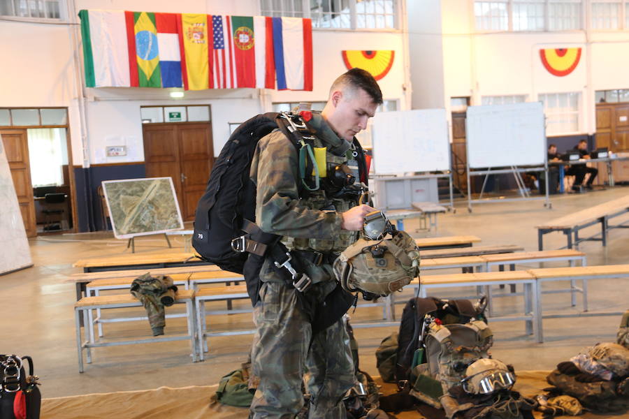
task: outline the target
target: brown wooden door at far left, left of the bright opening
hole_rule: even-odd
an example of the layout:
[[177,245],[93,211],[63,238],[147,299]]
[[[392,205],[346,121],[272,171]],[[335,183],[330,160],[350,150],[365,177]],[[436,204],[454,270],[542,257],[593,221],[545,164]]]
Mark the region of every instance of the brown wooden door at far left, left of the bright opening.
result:
[[13,177],[13,186],[17,194],[17,203],[22,212],[22,221],[27,237],[36,237],[35,203],[33,184],[29,164],[29,142],[25,129],[6,129],[0,131],[6,158]]

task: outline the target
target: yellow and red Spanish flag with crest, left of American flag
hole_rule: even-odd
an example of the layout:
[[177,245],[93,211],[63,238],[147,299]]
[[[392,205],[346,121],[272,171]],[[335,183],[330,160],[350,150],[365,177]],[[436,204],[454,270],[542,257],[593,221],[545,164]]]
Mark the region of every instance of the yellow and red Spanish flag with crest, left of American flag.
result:
[[186,90],[209,89],[208,15],[181,15],[180,50],[184,52],[181,73]]

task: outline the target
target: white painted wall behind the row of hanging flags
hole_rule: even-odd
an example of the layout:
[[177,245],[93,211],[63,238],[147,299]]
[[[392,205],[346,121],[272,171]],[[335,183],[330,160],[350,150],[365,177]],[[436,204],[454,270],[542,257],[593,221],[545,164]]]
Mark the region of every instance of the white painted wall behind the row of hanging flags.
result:
[[[256,15],[259,14],[259,1],[68,0],[68,8],[72,10],[68,12],[71,20],[78,23],[80,21],[76,15],[81,9]],[[395,50],[393,67],[389,75],[380,81],[380,86],[385,99],[400,100],[400,109],[406,103],[401,31],[315,29],[315,80],[312,92],[256,89],[187,91],[185,98],[173,100],[168,96],[167,89],[81,89],[78,82],[80,75],[75,71],[74,54],[78,54],[82,66],[82,50],[80,45],[73,45],[73,30],[74,27],[68,24],[0,24],[3,59],[10,63],[2,66],[0,106],[67,106],[75,165],[143,161],[140,106],[146,105],[210,105],[212,137],[217,155],[229,138],[229,122],[243,122],[252,115],[268,111],[271,102],[326,100],[331,82],[346,71],[341,50]],[[79,112],[82,92],[85,93],[85,126],[82,126]],[[83,131],[86,133],[85,147],[81,135]],[[107,158],[104,156],[107,145],[127,145],[128,154]]]

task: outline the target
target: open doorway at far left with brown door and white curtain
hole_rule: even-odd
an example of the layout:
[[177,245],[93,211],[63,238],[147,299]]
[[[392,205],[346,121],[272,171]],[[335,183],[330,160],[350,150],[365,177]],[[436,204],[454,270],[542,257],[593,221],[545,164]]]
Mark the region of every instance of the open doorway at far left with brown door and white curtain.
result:
[[0,136],[27,237],[76,231],[66,108],[0,109]]

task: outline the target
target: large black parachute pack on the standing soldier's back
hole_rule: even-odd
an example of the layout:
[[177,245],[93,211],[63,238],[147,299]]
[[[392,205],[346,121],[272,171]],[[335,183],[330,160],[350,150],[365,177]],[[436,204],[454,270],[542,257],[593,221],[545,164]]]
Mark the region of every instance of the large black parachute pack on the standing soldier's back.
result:
[[243,219],[255,221],[251,160],[258,141],[277,128],[277,115],[256,115],[236,128],[214,162],[208,187],[198,201],[192,246],[223,270],[243,273],[249,253],[233,251],[231,241],[243,235]]

